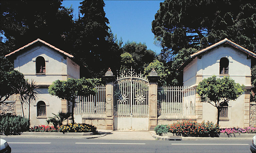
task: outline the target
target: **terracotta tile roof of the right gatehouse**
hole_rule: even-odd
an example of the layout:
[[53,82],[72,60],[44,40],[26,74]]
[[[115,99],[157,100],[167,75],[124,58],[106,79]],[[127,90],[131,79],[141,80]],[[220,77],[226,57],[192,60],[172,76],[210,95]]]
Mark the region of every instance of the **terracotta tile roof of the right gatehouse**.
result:
[[210,50],[210,49],[212,49],[212,48],[214,48],[214,47],[216,47],[216,46],[218,46],[218,45],[221,45],[221,44],[223,44],[223,43],[227,43],[227,44],[229,44],[229,45],[231,45],[231,46],[233,46],[233,47],[239,49],[240,51],[243,51],[243,52],[245,52],[246,54],[248,54],[248,55],[250,55],[250,56],[256,58],[256,54],[255,54],[255,53],[253,53],[253,52],[251,52],[251,51],[249,51],[249,50],[243,48],[242,46],[237,45],[236,43],[234,43],[234,42],[228,40],[227,38],[225,38],[225,39],[223,39],[222,41],[219,41],[219,42],[216,43],[216,44],[213,44],[213,45],[211,45],[211,46],[209,46],[209,47],[207,47],[207,48],[205,48],[205,49],[203,49],[203,50],[201,50],[201,51],[198,51],[198,52],[196,52],[196,53],[190,55],[190,58],[189,58],[186,62],[184,62],[177,70],[180,70],[181,68],[184,68],[184,67],[185,67],[186,65],[188,65],[196,56],[198,56],[198,55],[200,55],[200,54],[202,54],[202,53],[204,53],[204,52],[206,52],[206,51],[208,51],[208,50]]

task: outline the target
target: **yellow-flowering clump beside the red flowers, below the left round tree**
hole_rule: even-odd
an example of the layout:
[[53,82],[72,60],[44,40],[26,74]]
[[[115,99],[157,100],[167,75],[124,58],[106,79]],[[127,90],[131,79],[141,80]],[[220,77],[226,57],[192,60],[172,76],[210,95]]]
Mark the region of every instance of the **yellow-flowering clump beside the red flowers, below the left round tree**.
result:
[[96,127],[85,123],[66,124],[59,127],[60,132],[95,132]]

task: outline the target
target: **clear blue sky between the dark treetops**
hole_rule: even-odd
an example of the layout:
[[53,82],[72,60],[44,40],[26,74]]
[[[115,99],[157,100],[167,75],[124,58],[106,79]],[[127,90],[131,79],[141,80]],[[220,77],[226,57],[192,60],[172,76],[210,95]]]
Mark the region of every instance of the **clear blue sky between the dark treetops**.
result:
[[[82,1],[62,2],[62,6],[74,9],[73,15],[78,15],[78,6]],[[114,35],[123,42],[135,41],[137,43],[146,43],[148,49],[161,52],[161,47],[154,45],[154,34],[151,32],[151,22],[159,9],[161,1],[104,1],[106,17],[109,20]]]

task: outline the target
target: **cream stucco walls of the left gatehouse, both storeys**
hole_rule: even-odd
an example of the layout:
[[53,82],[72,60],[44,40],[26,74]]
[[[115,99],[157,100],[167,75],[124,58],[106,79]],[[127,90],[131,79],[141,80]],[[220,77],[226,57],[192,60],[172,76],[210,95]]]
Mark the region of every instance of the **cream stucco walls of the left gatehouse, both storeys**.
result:
[[[66,55],[45,46],[41,43],[33,44],[16,54],[14,59],[14,69],[24,74],[26,79],[34,79],[37,84],[43,84],[36,89],[39,93],[38,98],[30,105],[30,122],[34,125],[48,125],[47,117],[53,117],[52,113],[57,114],[59,111],[66,112],[66,100],[61,100],[56,96],[48,93],[48,86],[53,81],[60,79],[66,80],[67,77],[79,78],[79,66],[70,60]],[[36,74],[36,58],[42,56],[45,59],[45,74]],[[37,102],[46,103],[46,116],[37,116]],[[17,114],[22,115],[20,102],[17,103]],[[24,105],[24,114],[28,117],[28,106]]]

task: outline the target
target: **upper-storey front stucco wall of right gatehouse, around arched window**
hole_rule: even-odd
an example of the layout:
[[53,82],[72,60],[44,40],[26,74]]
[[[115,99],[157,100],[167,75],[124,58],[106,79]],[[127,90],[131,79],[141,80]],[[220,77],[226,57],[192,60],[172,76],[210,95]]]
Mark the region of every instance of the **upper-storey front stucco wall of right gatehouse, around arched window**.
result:
[[223,47],[222,45],[213,48],[207,51],[207,54],[203,54],[201,59],[197,59],[197,75],[202,75],[203,79],[212,75],[223,77],[219,74],[219,62],[223,57],[229,60],[228,75],[236,83],[251,85],[251,82],[246,81],[246,76],[251,76],[251,59],[247,59],[246,54],[242,51],[229,46]]

